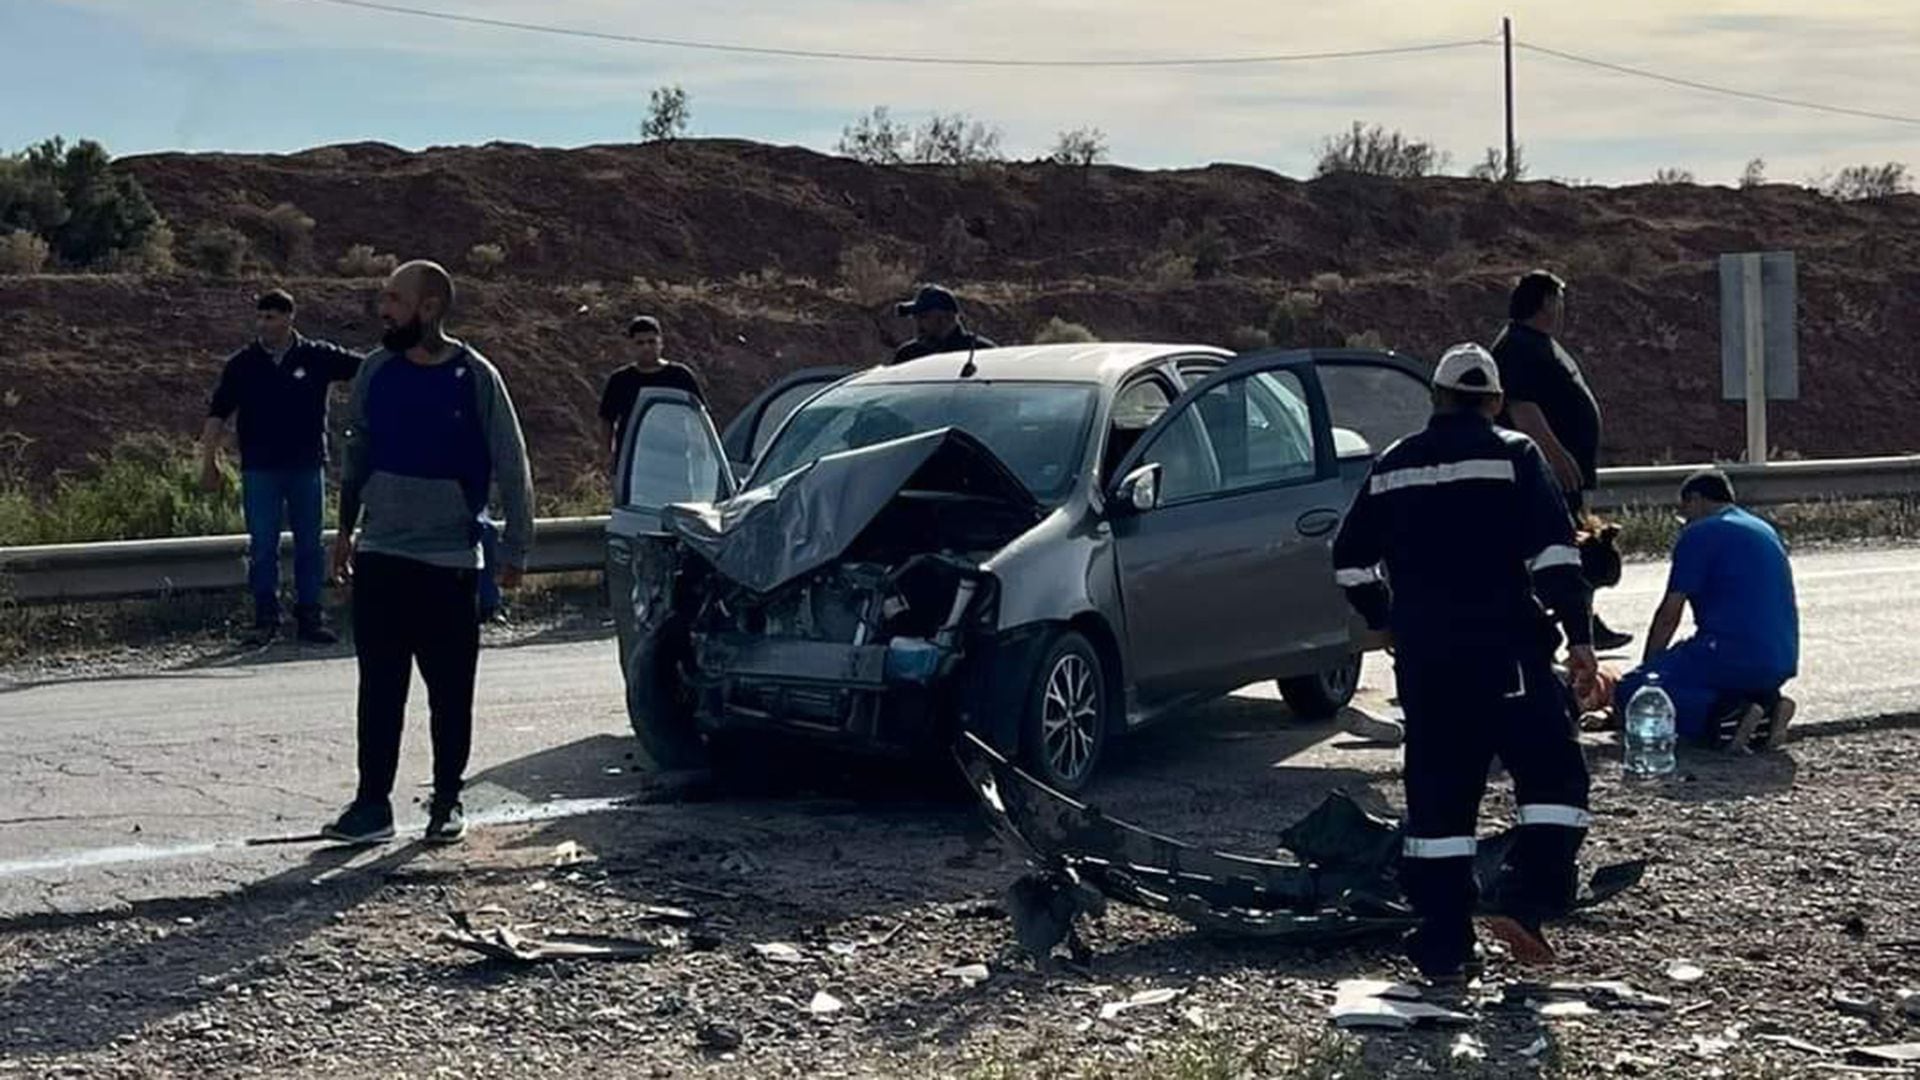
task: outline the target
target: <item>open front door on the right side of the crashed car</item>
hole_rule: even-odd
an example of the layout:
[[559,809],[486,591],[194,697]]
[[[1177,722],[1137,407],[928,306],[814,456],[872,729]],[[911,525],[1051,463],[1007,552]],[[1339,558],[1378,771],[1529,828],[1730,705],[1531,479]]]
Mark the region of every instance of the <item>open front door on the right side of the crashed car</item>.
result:
[[1106,505],[1142,696],[1217,694],[1348,655],[1331,557],[1346,492],[1313,354],[1221,365],[1116,477]]

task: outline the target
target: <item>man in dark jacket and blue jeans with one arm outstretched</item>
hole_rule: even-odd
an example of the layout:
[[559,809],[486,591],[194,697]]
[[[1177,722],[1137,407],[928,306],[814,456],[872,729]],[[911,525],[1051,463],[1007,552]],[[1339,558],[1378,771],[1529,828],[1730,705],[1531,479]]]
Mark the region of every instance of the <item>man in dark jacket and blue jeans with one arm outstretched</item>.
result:
[[359,371],[361,357],[294,331],[294,298],[282,288],[253,302],[259,336],[236,352],[213,386],[200,432],[202,486],[221,486],[221,440],[238,413],[240,505],[248,530],[253,634],[280,628],[280,523],[294,532],[294,617],[300,640],[332,644],[321,619],[326,552],[321,515],[326,467],[326,396]]

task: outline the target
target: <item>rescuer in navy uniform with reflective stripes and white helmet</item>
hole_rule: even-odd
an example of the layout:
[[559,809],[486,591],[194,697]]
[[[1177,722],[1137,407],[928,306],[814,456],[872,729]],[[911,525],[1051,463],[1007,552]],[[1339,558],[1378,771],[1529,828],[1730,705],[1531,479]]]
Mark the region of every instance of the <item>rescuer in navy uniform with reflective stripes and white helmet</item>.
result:
[[1407,955],[1453,980],[1475,955],[1475,824],[1494,755],[1513,774],[1521,828],[1488,930],[1519,961],[1553,959],[1540,924],[1574,897],[1590,822],[1553,623],[1576,686],[1596,661],[1567,505],[1540,448],[1494,427],[1494,357],[1453,346],[1432,384],[1432,421],[1375,461],[1332,555],[1348,601],[1394,650],[1407,715],[1400,872],[1421,917]]

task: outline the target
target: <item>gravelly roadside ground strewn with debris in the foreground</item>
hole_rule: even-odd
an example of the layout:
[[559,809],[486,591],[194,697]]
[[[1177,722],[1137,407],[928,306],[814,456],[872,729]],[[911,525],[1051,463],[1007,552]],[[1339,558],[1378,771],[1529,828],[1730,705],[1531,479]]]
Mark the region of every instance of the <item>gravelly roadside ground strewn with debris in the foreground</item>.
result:
[[[1125,744],[1094,801],[1240,851],[1332,786],[1398,801],[1394,753],[1325,736],[1229,709]],[[1907,721],[1811,728],[1780,755],[1693,755],[1622,786],[1594,746],[1588,861],[1655,867],[1559,930],[1551,974],[1628,980],[1661,1011],[1503,1009],[1490,999],[1536,976],[1496,957],[1465,1028],[1342,1034],[1336,982],[1405,978],[1390,947],[1208,940],[1121,907],[1091,926],[1091,965],[1041,974],[998,901],[1020,867],[950,784],[910,774],[445,851],[319,849],[238,897],[17,920],[0,926],[0,1074],[1799,1076],[1920,1042],[1903,999],[1920,990],[1916,751]],[[1507,811],[1490,799],[1486,824]],[[455,915],[649,955],[484,959],[442,940]]]

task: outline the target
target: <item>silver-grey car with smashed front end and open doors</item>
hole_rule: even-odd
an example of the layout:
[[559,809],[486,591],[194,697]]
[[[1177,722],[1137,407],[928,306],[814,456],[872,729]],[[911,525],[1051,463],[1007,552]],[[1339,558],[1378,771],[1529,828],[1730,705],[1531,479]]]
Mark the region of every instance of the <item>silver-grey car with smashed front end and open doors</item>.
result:
[[607,536],[634,732],[672,767],[968,730],[1071,792],[1112,738],[1256,680],[1331,717],[1361,655],[1329,544],[1427,415],[1425,369],[1373,350],[822,369],[726,436],[647,390]]

